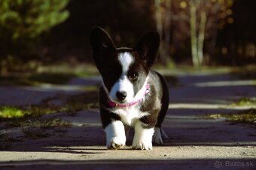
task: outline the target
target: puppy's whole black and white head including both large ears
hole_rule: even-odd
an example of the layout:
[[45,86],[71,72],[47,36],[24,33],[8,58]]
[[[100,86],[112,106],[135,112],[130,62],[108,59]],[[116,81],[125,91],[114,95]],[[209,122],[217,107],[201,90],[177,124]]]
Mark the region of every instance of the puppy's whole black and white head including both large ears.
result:
[[145,93],[147,76],[157,58],[160,36],[145,34],[133,48],[116,48],[102,28],[93,28],[90,37],[93,58],[110,100],[130,103]]

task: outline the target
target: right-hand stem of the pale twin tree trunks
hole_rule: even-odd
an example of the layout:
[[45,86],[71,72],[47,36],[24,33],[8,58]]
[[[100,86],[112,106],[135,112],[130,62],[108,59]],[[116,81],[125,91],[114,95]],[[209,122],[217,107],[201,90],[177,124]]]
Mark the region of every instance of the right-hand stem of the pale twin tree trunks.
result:
[[205,39],[205,28],[206,28],[206,12],[202,11],[200,13],[200,28],[197,42],[197,50],[198,50],[198,64],[199,67],[203,65],[203,42]]

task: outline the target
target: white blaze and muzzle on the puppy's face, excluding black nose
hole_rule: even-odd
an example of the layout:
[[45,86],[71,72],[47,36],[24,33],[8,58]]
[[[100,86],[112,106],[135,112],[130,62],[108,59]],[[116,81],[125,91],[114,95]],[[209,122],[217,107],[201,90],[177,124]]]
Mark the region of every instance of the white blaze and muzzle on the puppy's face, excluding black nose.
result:
[[120,64],[122,66],[122,74],[120,78],[117,80],[116,83],[114,83],[113,87],[111,88],[111,91],[109,93],[109,97],[112,101],[117,102],[117,91],[126,91],[126,98],[123,100],[123,103],[130,103],[133,101],[134,97],[134,91],[133,91],[133,83],[130,82],[130,80],[127,77],[127,72],[129,70],[129,67],[131,64],[133,64],[134,59],[133,56],[130,54],[130,52],[123,52],[120,53],[118,56],[118,60],[120,61]]

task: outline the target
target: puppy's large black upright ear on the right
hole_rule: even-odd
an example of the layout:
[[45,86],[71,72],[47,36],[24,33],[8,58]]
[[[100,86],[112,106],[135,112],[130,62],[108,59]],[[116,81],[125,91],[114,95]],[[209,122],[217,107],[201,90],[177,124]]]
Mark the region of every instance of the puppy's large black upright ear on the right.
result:
[[133,50],[139,57],[146,61],[148,67],[157,60],[157,53],[160,46],[160,35],[157,31],[150,31],[139,40]]

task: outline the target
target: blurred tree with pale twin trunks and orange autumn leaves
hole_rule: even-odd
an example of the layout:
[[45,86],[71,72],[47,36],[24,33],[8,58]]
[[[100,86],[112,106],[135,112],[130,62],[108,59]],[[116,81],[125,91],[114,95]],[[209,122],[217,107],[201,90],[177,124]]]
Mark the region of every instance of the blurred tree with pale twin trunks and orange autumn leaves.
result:
[[[219,28],[232,23],[231,7],[233,0],[179,0],[172,4],[178,24],[175,32],[182,39],[190,37],[190,48],[194,67],[203,64],[203,48],[205,39],[212,39],[209,53],[215,49],[216,36]],[[176,35],[177,36],[177,35]]]

